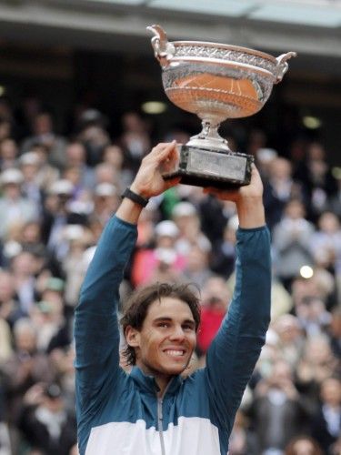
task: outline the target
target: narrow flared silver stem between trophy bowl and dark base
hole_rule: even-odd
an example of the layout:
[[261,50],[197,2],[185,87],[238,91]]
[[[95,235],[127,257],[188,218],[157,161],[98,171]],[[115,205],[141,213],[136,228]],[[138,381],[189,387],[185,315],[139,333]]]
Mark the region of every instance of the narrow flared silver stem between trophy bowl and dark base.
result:
[[211,119],[204,118],[201,125],[203,126],[201,132],[196,136],[192,136],[186,146],[208,149],[214,148],[225,152],[231,152],[226,139],[218,133],[220,122],[214,122]]

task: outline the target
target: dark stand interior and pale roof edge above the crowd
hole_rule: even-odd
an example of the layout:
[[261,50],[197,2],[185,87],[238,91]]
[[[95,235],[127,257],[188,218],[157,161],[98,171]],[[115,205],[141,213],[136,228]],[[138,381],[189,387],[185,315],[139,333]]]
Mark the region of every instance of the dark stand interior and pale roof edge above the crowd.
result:
[[[171,40],[244,45],[274,56],[295,50],[299,57],[285,81],[242,125],[262,126],[286,154],[297,136],[318,136],[336,165],[340,23],[337,0],[3,0],[0,91],[16,108],[37,96],[66,133],[75,126],[75,109],[96,106],[110,118],[113,135],[122,114],[138,110],[160,136],[169,118],[196,130],[198,121],[167,102],[146,25],[162,25]],[[165,106],[145,106],[150,101]]]

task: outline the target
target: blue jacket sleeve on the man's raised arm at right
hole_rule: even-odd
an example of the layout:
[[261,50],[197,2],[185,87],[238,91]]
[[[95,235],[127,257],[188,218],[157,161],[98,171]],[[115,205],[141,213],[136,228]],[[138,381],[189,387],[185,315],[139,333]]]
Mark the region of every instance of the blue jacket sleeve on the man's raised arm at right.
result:
[[229,432],[266,339],[271,261],[267,227],[239,228],[232,302],[206,357],[208,393],[217,424]]

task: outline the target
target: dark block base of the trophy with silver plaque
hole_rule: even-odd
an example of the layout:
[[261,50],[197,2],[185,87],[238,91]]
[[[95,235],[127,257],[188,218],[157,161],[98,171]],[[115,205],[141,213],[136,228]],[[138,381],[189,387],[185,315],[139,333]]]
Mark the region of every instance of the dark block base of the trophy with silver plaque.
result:
[[192,146],[180,146],[179,155],[178,167],[162,174],[165,180],[181,177],[185,185],[226,189],[250,183],[252,155]]

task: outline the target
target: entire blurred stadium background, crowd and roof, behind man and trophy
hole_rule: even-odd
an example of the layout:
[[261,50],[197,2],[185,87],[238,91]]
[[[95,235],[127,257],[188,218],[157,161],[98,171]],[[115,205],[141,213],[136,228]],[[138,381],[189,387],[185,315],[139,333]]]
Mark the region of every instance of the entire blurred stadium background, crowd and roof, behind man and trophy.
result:
[[[153,24],[297,52],[259,113],[220,128],[256,158],[274,264],[229,453],[340,455],[339,0],[0,0],[0,455],[77,453],[73,312],[96,241],[150,148],[200,130],[165,96]],[[228,308],[236,227],[232,204],[181,185],[139,222],[122,301],[154,279],[200,286],[193,369]]]

